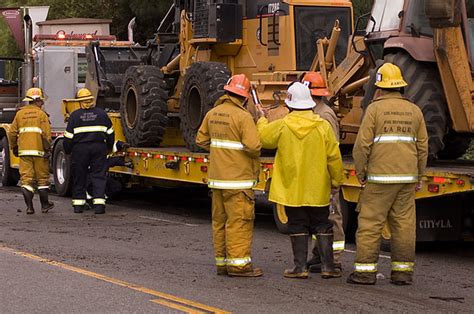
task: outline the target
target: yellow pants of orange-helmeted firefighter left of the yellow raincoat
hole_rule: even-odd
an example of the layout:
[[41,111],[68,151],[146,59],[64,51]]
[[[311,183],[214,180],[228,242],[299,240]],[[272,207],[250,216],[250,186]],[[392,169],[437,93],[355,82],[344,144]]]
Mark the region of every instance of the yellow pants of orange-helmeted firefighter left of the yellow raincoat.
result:
[[251,268],[255,197],[252,190],[212,190],[212,233],[217,267]]

